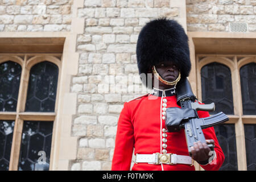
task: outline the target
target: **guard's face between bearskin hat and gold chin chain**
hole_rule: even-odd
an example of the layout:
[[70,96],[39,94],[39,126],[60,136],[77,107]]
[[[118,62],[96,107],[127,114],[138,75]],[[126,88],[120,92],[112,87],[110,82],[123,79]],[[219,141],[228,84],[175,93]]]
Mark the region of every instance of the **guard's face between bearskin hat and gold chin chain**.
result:
[[174,63],[159,63],[155,69],[166,81],[174,81],[179,76],[179,67]]

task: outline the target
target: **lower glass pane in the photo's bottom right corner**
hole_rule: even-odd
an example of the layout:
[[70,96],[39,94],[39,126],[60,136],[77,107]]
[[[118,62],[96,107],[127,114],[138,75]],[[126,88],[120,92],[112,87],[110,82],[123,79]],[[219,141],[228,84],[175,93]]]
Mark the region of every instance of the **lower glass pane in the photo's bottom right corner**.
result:
[[244,125],[248,171],[256,171],[256,125]]

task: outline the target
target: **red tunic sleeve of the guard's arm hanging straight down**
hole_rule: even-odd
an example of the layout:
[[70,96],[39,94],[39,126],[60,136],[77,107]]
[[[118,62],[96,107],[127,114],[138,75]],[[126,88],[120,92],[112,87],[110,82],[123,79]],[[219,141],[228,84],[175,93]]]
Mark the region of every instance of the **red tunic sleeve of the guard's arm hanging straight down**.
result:
[[125,102],[118,119],[115,149],[112,160],[113,171],[129,171],[134,148],[134,130],[131,115]]

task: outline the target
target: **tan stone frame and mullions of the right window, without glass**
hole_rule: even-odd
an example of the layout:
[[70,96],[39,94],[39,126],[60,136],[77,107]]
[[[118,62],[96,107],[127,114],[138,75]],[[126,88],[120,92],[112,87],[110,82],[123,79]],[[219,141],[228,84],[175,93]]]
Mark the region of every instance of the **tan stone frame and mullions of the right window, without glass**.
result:
[[[243,58],[242,58],[243,57]],[[256,115],[243,115],[242,94],[240,82],[240,69],[243,65],[256,63],[256,55],[196,55],[196,81],[197,96],[202,100],[201,95],[201,68],[210,63],[220,63],[226,65],[231,72],[234,115],[228,115],[229,121],[235,125],[237,144],[237,166],[238,170],[247,170],[246,146],[245,146],[245,124],[256,124]],[[237,89],[239,88],[239,89]]]

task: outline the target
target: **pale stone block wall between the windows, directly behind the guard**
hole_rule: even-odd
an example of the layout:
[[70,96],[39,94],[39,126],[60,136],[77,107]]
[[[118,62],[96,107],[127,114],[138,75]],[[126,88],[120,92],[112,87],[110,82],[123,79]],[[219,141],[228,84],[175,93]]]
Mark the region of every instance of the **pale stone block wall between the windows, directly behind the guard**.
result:
[[79,146],[69,169],[111,168],[123,103],[146,93],[135,55],[138,34],[152,18],[185,18],[172,2],[177,5],[181,1],[85,0],[84,8],[78,9],[85,30],[77,36],[79,71],[71,91],[77,93],[72,135],[78,138]]

